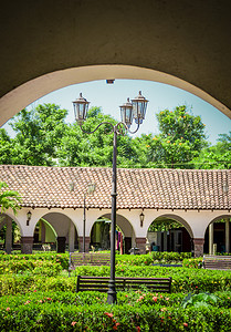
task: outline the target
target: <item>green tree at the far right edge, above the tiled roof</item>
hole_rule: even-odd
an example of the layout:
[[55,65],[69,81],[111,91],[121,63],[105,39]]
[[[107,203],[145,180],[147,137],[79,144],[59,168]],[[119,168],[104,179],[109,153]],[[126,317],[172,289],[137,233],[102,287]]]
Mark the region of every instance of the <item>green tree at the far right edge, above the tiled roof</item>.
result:
[[206,147],[200,155],[192,160],[196,168],[231,168],[231,132],[220,134],[218,143],[213,146]]

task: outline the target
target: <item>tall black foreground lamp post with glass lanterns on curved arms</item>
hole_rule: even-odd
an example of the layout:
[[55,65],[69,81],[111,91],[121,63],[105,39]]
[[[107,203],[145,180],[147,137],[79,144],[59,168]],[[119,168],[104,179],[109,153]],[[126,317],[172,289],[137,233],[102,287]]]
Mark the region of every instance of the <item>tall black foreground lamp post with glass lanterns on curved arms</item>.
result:
[[[112,133],[114,133],[114,139],[113,139],[113,178],[112,178],[112,230],[111,230],[111,278],[109,278],[109,284],[108,284],[108,292],[107,292],[107,303],[113,304],[116,303],[116,288],[115,288],[115,234],[116,234],[116,155],[117,155],[117,135],[123,134],[123,127],[128,131],[130,134],[135,134],[139,125],[143,123],[143,120],[145,118],[146,108],[147,108],[148,101],[141,95],[141,92],[139,91],[139,95],[132,100],[132,103],[129,98],[127,98],[127,103],[119,106],[120,107],[120,115],[122,121],[118,122],[116,125],[113,125],[109,122],[103,122],[99,125],[96,126],[96,128],[93,132],[85,132],[82,128],[82,124],[86,120],[88,104],[83,96],[82,93],[80,94],[80,97],[73,102],[74,105],[74,113],[75,113],[75,120],[80,124],[81,129],[86,134],[93,134],[97,128],[103,125],[107,124],[112,127]],[[133,118],[135,120],[135,123],[137,124],[137,128],[132,132],[129,129]]]

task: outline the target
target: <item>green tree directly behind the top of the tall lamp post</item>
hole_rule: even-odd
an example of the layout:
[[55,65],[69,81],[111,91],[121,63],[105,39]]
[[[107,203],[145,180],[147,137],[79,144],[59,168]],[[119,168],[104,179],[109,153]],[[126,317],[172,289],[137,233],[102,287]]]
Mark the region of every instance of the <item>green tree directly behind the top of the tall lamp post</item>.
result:
[[[83,125],[86,132],[93,131],[99,123],[116,121],[104,115],[99,107],[88,111],[87,120]],[[85,134],[77,124],[69,125],[62,138],[61,148],[57,151],[61,166],[112,166],[113,160],[113,133],[109,125],[102,125],[94,134]],[[117,164],[122,167],[133,158],[132,139],[129,136],[119,135],[117,141]]]

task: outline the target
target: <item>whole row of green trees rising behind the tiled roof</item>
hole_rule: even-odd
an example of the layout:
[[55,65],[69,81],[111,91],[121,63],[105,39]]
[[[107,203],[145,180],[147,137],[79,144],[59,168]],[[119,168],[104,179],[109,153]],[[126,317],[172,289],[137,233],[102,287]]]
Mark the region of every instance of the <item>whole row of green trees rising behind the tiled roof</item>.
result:
[[[0,129],[0,163],[112,167],[111,126],[102,125],[88,135],[77,124],[65,123],[66,115],[66,110],[54,104],[22,110],[11,121],[15,137]],[[209,146],[201,117],[185,105],[160,111],[156,117],[156,135],[118,135],[118,167],[230,168],[231,133],[221,134],[218,143]],[[99,107],[92,107],[83,128],[93,131],[101,122],[116,124]]]

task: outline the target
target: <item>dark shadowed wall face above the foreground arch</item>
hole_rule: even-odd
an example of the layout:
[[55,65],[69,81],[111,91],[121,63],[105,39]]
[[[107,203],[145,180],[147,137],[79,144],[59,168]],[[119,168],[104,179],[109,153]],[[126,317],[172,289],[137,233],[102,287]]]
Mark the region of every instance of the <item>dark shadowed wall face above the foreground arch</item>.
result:
[[[229,1],[214,0],[195,0],[190,6],[154,0],[6,2],[0,95],[56,71],[125,64],[190,82],[220,101],[224,112],[231,108],[228,6]],[[8,117],[7,107],[1,112]]]

